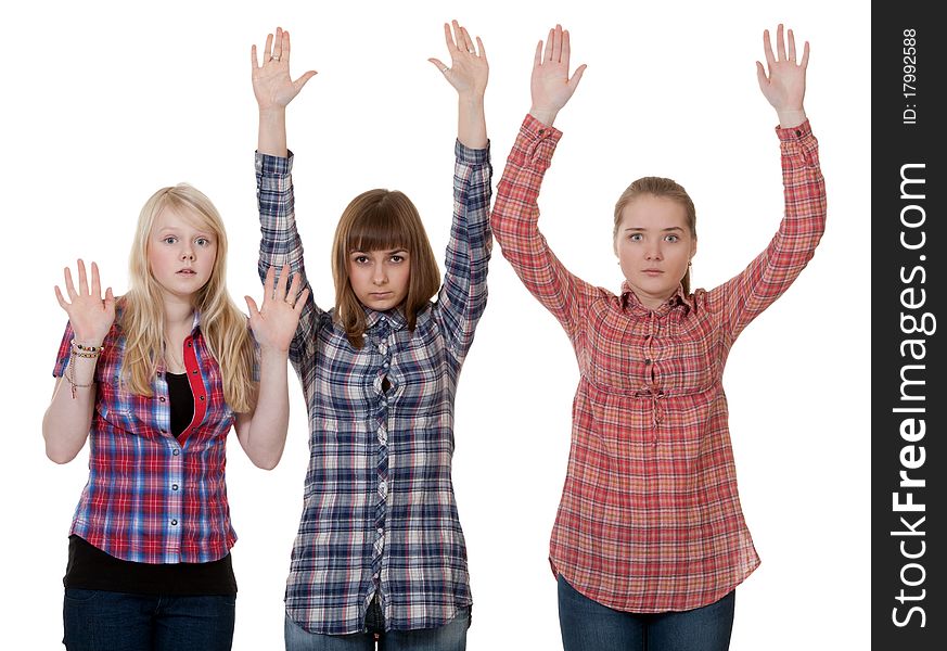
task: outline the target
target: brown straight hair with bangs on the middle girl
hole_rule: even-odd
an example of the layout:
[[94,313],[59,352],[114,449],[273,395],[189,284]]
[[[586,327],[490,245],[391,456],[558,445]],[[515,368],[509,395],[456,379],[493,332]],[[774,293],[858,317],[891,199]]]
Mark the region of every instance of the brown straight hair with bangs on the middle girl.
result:
[[408,329],[414,330],[418,312],[440,286],[440,271],[418,208],[397,190],[369,190],[349,202],[335,228],[332,278],[335,281],[335,318],[356,348],[362,347],[366,321],[364,308],[348,277],[348,256],[354,251],[399,247],[408,252],[411,260],[408,295],[399,307],[405,310]]

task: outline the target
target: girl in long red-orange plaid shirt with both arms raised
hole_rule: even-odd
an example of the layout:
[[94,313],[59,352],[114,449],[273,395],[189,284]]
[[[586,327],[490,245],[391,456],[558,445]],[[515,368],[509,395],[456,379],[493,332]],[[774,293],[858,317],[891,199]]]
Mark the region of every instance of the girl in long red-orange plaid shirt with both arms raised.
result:
[[539,232],[537,200],[562,132],[552,124],[583,73],[570,35],[536,48],[533,107],[491,215],[503,256],[560,321],[580,380],[550,562],[566,651],[721,651],[734,589],[759,564],[743,520],[722,373],[735,337],[795,280],[824,230],[818,144],[803,110],[808,43],[777,31],[759,87],[779,115],[785,216],[769,246],[709,291],[690,290],[693,202],[645,177],[615,206],[620,294],[571,273]]

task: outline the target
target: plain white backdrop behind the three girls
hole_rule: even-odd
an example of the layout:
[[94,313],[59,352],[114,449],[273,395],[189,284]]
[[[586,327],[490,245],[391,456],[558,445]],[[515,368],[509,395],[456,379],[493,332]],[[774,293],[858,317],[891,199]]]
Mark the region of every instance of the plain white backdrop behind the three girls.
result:
[[[848,4],[848,7],[846,7]],[[732,649],[865,649],[869,621],[868,3],[317,2],[5,4],[0,102],[8,293],[2,319],[0,636],[56,649],[69,519],[87,451],[43,455],[40,422],[65,315],[62,267],[94,259],[116,294],[144,200],[189,181],[225,216],[229,283],[260,294],[249,47],[293,35],[294,74],[319,75],[293,103],[297,215],[317,299],[333,301],[329,248],[345,204],[405,191],[436,251],[451,212],[455,91],[441,23],[482,36],[490,61],[495,187],[529,107],[536,41],[561,22],[589,68],[540,207],[576,273],[618,288],[614,201],[631,180],[670,176],[698,206],[695,286],[740,271],[782,214],[776,114],[759,93],[760,35],[778,22],[811,42],[806,108],[821,143],[829,228],[798,282],[734,346],[725,385],[743,508],[763,565],[738,590]],[[475,600],[469,644],[558,649],[548,538],[562,489],[577,382],[571,346],[495,248],[490,303],[457,400],[455,485]],[[12,256],[12,259],[9,259]],[[23,280],[23,279],[27,280]],[[232,442],[229,494],[240,541],[234,649],[282,646],[282,595],[302,507],[305,407],[279,468]]]

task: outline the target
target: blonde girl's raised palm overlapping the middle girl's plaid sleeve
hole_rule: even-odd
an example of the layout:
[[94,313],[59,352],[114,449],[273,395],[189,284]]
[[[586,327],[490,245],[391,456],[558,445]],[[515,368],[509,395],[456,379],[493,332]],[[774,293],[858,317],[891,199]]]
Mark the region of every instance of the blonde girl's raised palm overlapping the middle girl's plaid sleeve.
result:
[[270,267],[264,282],[263,308],[257,309],[256,302],[244,296],[249,309],[249,327],[261,349],[272,348],[281,352],[290,349],[293,334],[303,314],[303,306],[309,297],[309,290],[299,293],[303,280],[298,273],[293,275],[293,284],[286,291],[286,279],[290,277],[290,266],[283,267],[279,282],[276,282],[276,269]]

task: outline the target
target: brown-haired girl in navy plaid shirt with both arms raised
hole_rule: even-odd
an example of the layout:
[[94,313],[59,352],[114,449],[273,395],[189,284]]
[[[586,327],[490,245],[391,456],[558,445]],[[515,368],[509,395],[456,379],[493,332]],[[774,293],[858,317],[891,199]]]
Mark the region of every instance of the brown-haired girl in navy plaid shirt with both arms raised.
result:
[[[414,205],[360,194],[333,244],[335,308],[310,298],[290,359],[309,412],[310,460],[286,586],[286,648],[463,649],[471,595],[450,468],[458,374],[487,298],[490,162],[483,43],[445,25],[458,91],[453,222],[443,284]],[[293,208],[285,108],[290,35],[253,49],[259,270],[304,275]],[[438,285],[440,290],[438,291]],[[437,301],[431,297],[437,294]]]

